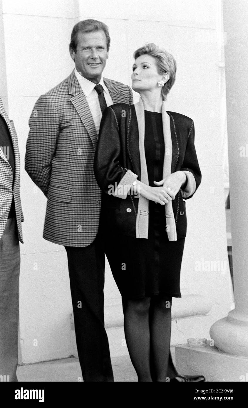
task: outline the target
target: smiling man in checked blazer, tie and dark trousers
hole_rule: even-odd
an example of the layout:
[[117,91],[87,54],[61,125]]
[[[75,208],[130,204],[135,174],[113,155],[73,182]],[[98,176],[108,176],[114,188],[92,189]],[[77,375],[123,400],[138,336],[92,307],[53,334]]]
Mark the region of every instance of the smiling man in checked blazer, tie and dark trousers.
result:
[[75,69],[36,102],[25,156],[27,173],[47,197],[43,237],[67,251],[84,381],[114,381],[103,317],[101,190],[93,164],[103,110],[133,100],[129,86],[102,77],[109,42],[102,22],[74,26],[69,49]]

